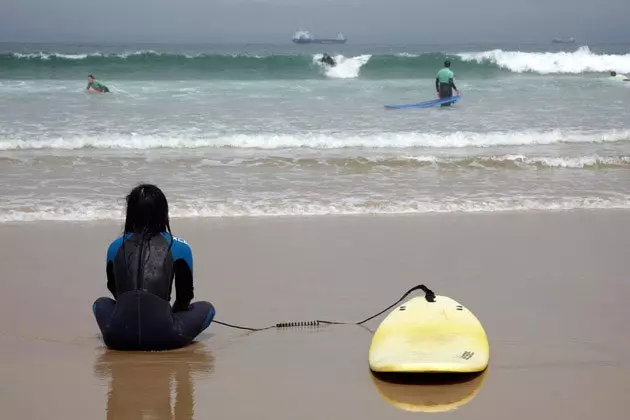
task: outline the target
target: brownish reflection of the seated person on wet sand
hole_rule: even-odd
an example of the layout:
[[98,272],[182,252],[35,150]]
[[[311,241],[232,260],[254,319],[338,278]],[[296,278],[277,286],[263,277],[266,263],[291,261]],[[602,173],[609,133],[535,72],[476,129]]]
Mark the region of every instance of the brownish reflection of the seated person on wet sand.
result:
[[195,405],[192,374],[211,374],[213,369],[214,359],[201,343],[167,352],[106,350],[94,365],[97,377],[109,379],[108,420],[190,420]]

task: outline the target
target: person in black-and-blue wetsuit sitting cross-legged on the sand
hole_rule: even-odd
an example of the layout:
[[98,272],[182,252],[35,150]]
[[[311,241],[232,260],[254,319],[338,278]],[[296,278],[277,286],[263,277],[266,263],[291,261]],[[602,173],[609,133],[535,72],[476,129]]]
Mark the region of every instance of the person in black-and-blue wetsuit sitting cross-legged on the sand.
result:
[[[127,195],[122,236],[107,249],[107,288],[114,299],[97,299],[92,310],[106,346],[116,350],[169,350],[186,346],[214,318],[209,302],[190,303],[193,257],[171,233],[168,202],[155,185]],[[175,283],[176,297],[170,306]]]

